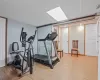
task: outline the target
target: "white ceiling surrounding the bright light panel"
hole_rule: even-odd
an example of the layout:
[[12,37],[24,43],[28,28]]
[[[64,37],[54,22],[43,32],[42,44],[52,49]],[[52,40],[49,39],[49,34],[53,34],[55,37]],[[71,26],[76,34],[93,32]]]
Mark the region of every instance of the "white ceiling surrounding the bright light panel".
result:
[[40,26],[56,22],[46,12],[60,6],[68,19],[98,12],[100,0],[0,0],[0,16]]

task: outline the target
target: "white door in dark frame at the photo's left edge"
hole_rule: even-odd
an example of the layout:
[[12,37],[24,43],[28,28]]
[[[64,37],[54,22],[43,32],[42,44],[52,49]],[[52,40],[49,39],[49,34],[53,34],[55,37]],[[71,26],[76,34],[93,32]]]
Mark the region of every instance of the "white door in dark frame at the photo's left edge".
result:
[[5,66],[5,25],[6,19],[0,18],[0,67]]

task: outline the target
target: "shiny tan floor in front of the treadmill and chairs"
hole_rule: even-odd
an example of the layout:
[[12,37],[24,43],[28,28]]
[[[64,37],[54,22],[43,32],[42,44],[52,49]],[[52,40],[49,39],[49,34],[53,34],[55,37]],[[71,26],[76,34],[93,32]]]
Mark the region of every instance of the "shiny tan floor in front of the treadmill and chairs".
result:
[[54,69],[35,63],[19,80],[98,80],[98,57],[64,55]]

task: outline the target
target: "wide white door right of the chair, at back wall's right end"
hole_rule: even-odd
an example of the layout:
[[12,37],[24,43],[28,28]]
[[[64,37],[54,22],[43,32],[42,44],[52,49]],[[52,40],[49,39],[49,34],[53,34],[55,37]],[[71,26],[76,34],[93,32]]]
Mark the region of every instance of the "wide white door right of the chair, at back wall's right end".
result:
[[86,55],[97,56],[97,25],[86,25]]

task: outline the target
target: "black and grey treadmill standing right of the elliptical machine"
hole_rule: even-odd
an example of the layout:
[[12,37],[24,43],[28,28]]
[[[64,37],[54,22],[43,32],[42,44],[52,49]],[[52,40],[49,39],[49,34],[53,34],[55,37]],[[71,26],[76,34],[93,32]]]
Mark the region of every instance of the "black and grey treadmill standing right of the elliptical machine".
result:
[[[54,39],[57,37],[56,32],[52,32],[51,34],[48,34],[45,39],[38,39],[38,41],[42,41],[44,43],[44,48],[46,51],[46,55],[41,55],[41,54],[35,54],[34,59],[36,62],[42,63],[44,65],[49,66],[51,69],[53,69],[54,65],[59,62],[59,58],[57,56],[57,50],[56,50],[56,45],[54,42]],[[51,41],[53,43],[54,51],[55,51],[55,56],[51,56],[47,49],[46,41]]]

